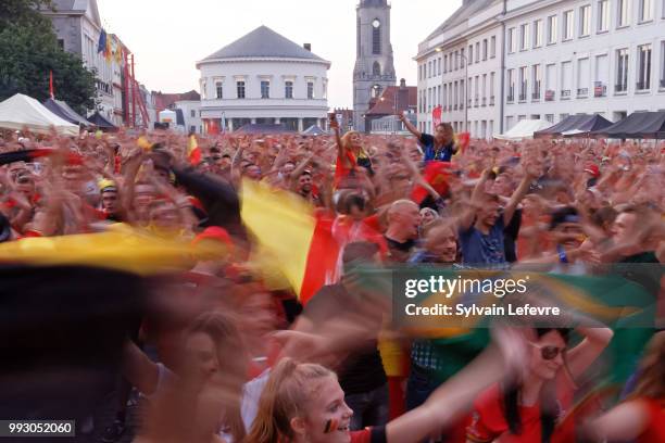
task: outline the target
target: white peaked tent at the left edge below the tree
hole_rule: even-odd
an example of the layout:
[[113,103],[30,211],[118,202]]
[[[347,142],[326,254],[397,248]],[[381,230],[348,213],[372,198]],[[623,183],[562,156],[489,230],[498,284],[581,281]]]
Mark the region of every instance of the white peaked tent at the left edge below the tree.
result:
[[2,129],[21,130],[27,127],[33,132],[48,134],[51,126],[58,134],[78,135],[78,126],[60,118],[30,97],[17,93],[0,103],[0,128]]

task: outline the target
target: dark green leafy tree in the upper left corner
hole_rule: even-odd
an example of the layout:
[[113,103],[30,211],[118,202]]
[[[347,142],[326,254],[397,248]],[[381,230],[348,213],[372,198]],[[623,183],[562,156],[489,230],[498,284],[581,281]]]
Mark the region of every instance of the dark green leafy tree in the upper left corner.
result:
[[49,98],[49,72],[58,99],[78,112],[95,106],[95,74],[80,58],[63,51],[37,8],[50,0],[0,1],[0,101],[25,93],[39,101]]

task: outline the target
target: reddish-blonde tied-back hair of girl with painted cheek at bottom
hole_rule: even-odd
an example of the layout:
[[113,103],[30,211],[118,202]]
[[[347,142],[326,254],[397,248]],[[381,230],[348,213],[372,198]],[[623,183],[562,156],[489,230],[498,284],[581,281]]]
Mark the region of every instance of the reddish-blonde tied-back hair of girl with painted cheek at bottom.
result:
[[317,380],[335,374],[321,365],[298,364],[283,358],[273,369],[259,412],[247,436],[251,443],[286,443],[294,439],[291,419],[304,415],[305,404],[316,391]]

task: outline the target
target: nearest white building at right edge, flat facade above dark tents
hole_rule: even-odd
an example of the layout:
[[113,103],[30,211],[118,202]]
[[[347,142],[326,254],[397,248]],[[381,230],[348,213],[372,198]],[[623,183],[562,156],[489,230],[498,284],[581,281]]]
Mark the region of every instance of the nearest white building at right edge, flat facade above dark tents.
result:
[[505,129],[665,109],[663,0],[509,1]]

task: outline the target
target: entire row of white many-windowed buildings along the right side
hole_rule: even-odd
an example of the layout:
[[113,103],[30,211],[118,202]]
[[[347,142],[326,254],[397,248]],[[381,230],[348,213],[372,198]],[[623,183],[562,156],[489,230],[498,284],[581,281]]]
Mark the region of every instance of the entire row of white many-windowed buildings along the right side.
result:
[[616,122],[664,109],[664,0],[464,0],[418,47],[418,127],[432,130],[437,105],[443,122],[473,137],[524,118],[597,113]]

